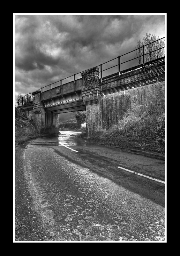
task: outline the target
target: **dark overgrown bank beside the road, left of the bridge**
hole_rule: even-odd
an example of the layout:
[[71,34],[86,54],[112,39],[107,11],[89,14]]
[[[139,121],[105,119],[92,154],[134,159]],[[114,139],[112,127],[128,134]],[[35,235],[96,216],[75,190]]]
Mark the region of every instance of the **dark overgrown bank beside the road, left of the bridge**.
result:
[[27,118],[26,111],[15,108],[15,145],[22,144],[28,140],[49,136],[49,133],[39,132],[34,123]]

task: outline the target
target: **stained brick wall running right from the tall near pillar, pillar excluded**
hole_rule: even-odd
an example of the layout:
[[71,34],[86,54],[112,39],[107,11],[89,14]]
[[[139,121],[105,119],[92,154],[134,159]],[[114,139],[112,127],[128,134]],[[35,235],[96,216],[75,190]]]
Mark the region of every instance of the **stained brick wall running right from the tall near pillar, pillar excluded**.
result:
[[[100,80],[99,80],[100,82]],[[165,59],[146,63],[104,77],[100,83],[102,127],[116,124],[138,106],[165,98]]]

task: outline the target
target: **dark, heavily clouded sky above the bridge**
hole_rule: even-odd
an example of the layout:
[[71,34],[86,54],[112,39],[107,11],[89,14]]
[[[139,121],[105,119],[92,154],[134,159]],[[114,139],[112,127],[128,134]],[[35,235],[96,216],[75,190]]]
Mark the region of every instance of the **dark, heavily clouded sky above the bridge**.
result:
[[[132,51],[146,33],[160,38],[165,36],[164,14],[20,13],[14,16],[16,95],[33,92]],[[133,52],[127,58],[134,57]],[[118,60],[114,60],[103,65],[102,69],[117,63]],[[121,70],[128,68],[127,65]],[[131,66],[134,65],[138,62],[131,63]],[[103,76],[117,71],[117,67],[104,71]],[[80,74],[76,76],[80,77]],[[72,80],[73,77],[64,80],[64,83]]]

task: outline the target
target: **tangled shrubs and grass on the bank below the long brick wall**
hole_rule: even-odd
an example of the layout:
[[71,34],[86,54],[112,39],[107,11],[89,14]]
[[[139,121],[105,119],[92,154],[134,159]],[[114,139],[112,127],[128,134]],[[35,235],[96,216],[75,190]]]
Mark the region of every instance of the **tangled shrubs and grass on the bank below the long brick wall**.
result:
[[165,154],[165,104],[156,100],[125,114],[118,124],[99,129],[87,140],[92,142]]

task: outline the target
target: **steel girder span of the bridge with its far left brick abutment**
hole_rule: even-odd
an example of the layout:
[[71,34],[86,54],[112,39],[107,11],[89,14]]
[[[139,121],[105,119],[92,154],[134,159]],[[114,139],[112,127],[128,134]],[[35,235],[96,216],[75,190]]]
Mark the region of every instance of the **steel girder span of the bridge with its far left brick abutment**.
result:
[[58,114],[86,110],[81,93],[82,78],[43,92],[32,93],[33,100],[23,104],[38,130],[59,131]]

